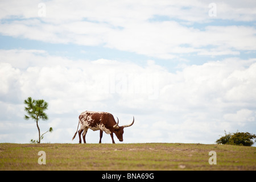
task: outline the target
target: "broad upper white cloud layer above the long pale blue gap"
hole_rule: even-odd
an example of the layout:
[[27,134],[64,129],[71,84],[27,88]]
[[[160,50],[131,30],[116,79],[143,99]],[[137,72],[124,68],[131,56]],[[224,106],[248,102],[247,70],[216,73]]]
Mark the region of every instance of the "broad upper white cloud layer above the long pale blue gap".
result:
[[[251,7],[238,9],[233,5],[236,3],[239,2],[216,2],[217,18],[236,19],[239,14],[240,19],[255,20]],[[241,50],[256,49],[256,30],[251,26],[205,26],[203,30],[184,26],[182,20],[185,24],[210,21],[208,4],[200,1],[49,1],[45,3],[46,17],[41,18],[35,13],[38,7],[28,4],[17,10],[15,4],[10,3],[14,6],[10,7],[3,2],[2,6],[10,11],[2,13],[2,18],[8,18],[1,21],[2,35],[49,43],[105,46],[160,59],[174,59],[176,53],[239,55]],[[12,20],[10,16],[20,19]],[[161,16],[168,19],[154,20]],[[214,48],[209,51],[208,46]]]

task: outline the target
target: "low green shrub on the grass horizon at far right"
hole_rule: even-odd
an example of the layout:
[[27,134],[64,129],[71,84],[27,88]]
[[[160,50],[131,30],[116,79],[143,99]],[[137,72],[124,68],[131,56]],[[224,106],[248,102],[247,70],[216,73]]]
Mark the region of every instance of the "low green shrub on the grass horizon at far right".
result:
[[216,143],[218,143],[218,144],[233,144],[236,146],[252,146],[254,144],[254,142],[256,142],[256,139],[253,141],[254,138],[256,138],[256,135],[250,134],[248,132],[242,133],[242,132],[237,131],[237,133],[226,134],[226,131],[225,131],[225,136],[216,140]]

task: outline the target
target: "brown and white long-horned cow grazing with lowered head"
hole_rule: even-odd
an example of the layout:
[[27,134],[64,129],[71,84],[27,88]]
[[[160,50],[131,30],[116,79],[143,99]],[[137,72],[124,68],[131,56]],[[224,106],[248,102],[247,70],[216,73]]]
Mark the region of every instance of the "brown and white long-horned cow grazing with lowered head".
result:
[[[85,142],[85,135],[87,133],[88,129],[91,129],[93,131],[101,130],[100,131],[100,143],[103,131],[105,131],[106,134],[110,134],[112,138],[112,143],[114,142],[113,133],[117,136],[120,142],[123,141],[123,128],[129,127],[133,125],[134,123],[134,117],[133,122],[130,125],[123,125],[118,126],[119,120],[117,118],[117,122],[115,122],[115,119],[112,114],[106,113],[106,112],[96,112],[96,111],[84,111],[79,115],[79,124],[80,124],[80,130],[79,130],[79,143],[81,143],[81,134],[82,139]],[[77,130],[79,128],[79,125],[77,126]],[[73,137],[73,139],[76,137],[76,133]],[[84,133],[82,133],[84,131]],[[73,140],[72,139],[72,140]]]

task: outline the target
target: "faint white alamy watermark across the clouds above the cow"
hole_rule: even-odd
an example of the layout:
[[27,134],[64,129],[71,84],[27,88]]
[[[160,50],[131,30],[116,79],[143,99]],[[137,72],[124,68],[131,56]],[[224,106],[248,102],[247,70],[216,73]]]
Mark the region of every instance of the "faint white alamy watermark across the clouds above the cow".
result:
[[158,73],[99,73],[92,77],[97,94],[139,94],[148,100],[159,97]]

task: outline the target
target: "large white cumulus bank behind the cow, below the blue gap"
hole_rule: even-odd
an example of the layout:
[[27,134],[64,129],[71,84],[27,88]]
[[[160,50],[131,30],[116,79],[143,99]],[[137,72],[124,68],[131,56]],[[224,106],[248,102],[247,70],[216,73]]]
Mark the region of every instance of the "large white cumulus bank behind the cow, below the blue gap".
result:
[[[63,135],[59,142],[69,141],[67,133],[75,132],[77,117],[84,110],[110,111],[123,124],[134,115],[136,122],[133,130],[127,129],[127,142],[138,141],[138,135],[140,142],[214,142],[218,133],[246,127],[255,118],[255,59],[209,61],[171,73],[152,60],[141,67],[116,60],[72,60],[39,52],[0,51],[0,57],[5,57],[1,61],[1,75],[5,75],[0,80],[1,98],[7,98],[1,100],[1,105],[14,106],[19,110],[16,118],[25,122],[23,100],[28,96],[43,98],[49,102],[47,112],[52,118],[43,126],[55,126],[57,134]],[[24,64],[12,64],[13,54]],[[30,59],[34,59],[34,66],[26,64]],[[243,109],[237,110],[239,107]],[[5,110],[7,115],[14,112]],[[57,142],[56,136],[48,137]],[[92,142],[98,142],[98,137]]]

